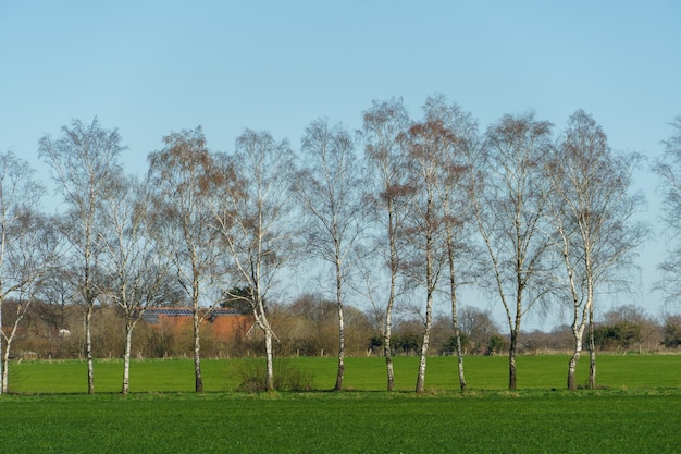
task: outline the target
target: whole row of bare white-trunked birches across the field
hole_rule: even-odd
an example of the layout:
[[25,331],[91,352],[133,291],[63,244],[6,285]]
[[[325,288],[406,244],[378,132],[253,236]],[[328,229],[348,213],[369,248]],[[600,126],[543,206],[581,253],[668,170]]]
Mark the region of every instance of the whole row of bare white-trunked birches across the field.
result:
[[[680,123],[676,128],[681,134]],[[232,151],[220,152],[208,148],[200,126],[172,132],[137,177],[122,168],[125,147],[117,131],[97,119],[74,121],[58,138],[39,142],[64,203],[53,217],[40,213],[45,189],[27,163],[2,155],[0,309],[10,294],[18,295],[20,311],[38,294],[81,303],[94,393],[92,311],[119,305],[127,393],[138,311],[188,300],[195,389],[201,392],[203,309],[240,302],[263,334],[272,390],[276,333],[268,302],[302,280],[335,302],[334,389],[343,389],[344,307],[351,298],[380,314],[388,390],[395,380],[395,310],[410,306],[421,316],[421,392],[434,305],[445,300],[456,334],[456,372],[467,388],[458,308],[469,287],[504,308],[509,389],[517,386],[522,320],[549,305],[571,314],[568,389],[577,389],[584,349],[589,385],[595,386],[596,302],[627,290],[647,234],[635,220],[643,197],[632,193],[641,156],[612,150],[582,110],[559,133],[534,113],[504,115],[483,132],[471,113],[439,95],[425,100],[418,119],[393,98],[362,112],[358,131],[314,120],[300,144],[295,151],[286,139],[245,130]],[[678,138],[667,150],[669,157],[681,151]],[[655,169],[673,183],[678,168],[678,161],[660,161]],[[669,186],[670,213],[678,212],[674,191]],[[2,333],[4,391],[15,331]]]

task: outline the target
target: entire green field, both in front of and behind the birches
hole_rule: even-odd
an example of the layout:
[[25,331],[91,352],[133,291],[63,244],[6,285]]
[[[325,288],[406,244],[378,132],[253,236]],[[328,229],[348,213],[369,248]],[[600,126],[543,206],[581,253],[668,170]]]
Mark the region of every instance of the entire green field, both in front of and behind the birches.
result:
[[[334,393],[333,358],[295,358],[313,392],[234,392],[242,359],[135,361],[117,394],[121,361],[96,364],[85,393],[79,361],[12,365],[15,394],[0,397],[8,453],[674,453],[681,450],[681,356],[602,356],[599,390],[567,392],[567,357],[467,358],[471,390],[457,391],[455,358],[430,358],[428,392],[410,392],[417,359],[397,358],[387,393],[381,358],[349,358],[347,391]],[[580,365],[587,367],[586,363]],[[580,382],[586,379],[580,371]],[[555,390],[554,390],[555,389]],[[16,394],[21,393],[21,394]]]

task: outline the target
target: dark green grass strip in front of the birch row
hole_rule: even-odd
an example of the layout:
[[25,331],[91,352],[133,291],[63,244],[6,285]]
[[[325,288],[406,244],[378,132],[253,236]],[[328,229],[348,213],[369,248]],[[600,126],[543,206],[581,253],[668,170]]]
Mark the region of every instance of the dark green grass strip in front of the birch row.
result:
[[3,396],[12,453],[671,453],[681,392]]

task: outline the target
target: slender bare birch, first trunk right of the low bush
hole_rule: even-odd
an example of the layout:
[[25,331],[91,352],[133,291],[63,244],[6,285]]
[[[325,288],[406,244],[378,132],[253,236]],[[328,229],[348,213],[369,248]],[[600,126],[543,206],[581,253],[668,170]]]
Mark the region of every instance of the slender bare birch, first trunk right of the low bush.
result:
[[345,375],[344,290],[355,269],[355,246],[363,233],[360,168],[350,133],[326,120],[313,121],[302,137],[304,169],[295,193],[308,217],[304,237],[311,256],[332,266],[338,312],[338,370],[335,390]]

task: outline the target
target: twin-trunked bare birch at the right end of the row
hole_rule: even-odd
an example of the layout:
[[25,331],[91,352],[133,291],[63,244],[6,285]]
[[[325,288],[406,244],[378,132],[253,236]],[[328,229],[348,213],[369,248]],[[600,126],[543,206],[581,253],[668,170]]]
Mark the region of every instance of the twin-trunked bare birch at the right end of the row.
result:
[[568,389],[575,390],[577,363],[586,326],[590,331],[590,388],[595,386],[593,342],[594,300],[598,291],[622,286],[634,248],[646,233],[632,221],[641,195],[629,195],[637,155],[612,152],[600,126],[584,111],[570,116],[568,130],[547,162],[552,182],[552,223],[567,275],[572,306],[573,352],[568,365]]

